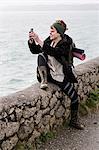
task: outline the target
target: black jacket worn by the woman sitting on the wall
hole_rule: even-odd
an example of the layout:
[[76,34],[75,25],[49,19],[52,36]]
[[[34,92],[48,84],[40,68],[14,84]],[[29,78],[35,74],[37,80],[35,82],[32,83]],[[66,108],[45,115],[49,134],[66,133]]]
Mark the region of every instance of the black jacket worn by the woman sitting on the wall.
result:
[[72,72],[71,63],[69,61],[73,40],[65,34],[62,40],[60,40],[54,48],[50,46],[51,42],[52,41],[50,40],[50,37],[48,37],[44,41],[44,45],[42,48],[40,47],[40,45],[36,45],[35,42],[33,42],[32,44],[28,42],[28,45],[31,53],[33,54],[39,54],[41,52],[44,52],[46,55],[53,56],[63,65],[65,79],[69,82],[77,82]]

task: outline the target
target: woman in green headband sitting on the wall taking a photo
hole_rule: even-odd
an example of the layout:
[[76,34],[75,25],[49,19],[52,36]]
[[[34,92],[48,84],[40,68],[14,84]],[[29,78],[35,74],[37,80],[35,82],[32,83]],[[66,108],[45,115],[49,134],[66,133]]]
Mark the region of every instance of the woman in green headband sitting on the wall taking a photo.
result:
[[77,80],[72,72],[72,39],[64,34],[67,26],[62,20],[51,25],[50,36],[43,42],[39,36],[29,33],[28,45],[33,54],[38,55],[38,80],[41,89],[48,87],[47,82],[58,85],[71,99],[70,127],[84,129],[78,121],[78,94],[74,89]]

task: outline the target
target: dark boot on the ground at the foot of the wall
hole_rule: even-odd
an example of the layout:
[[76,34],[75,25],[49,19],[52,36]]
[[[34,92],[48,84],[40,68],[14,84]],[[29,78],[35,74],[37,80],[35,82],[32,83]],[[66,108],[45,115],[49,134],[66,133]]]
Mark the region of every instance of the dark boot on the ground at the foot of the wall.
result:
[[79,130],[84,130],[84,125],[78,120],[78,110],[71,110],[71,120],[69,126]]

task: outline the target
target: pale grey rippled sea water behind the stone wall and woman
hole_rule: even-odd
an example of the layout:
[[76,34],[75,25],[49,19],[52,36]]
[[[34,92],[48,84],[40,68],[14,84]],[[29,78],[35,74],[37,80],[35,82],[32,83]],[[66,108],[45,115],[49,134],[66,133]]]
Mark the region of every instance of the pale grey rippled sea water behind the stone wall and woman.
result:
[[[85,61],[99,56],[99,11],[0,12],[0,96],[37,82],[37,55],[29,51],[28,31],[33,27],[45,39],[56,19],[67,22],[67,34],[86,51]],[[75,65],[80,63],[75,59]]]

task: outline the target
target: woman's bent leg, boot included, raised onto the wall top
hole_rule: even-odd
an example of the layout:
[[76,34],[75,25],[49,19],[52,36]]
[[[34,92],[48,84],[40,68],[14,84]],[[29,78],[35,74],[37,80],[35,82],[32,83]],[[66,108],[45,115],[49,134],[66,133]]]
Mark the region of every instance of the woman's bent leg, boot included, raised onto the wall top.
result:
[[41,82],[40,88],[46,89],[47,86],[47,58],[44,53],[38,55],[37,79]]

